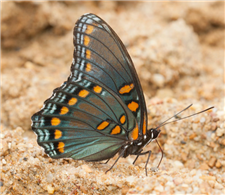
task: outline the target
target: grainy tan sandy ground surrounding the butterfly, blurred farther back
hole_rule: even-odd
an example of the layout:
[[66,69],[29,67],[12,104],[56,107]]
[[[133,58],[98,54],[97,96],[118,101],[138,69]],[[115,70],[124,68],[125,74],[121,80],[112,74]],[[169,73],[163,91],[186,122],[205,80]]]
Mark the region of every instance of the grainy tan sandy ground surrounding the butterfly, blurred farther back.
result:
[[[119,35],[137,69],[156,127],[168,124],[147,156],[108,164],[53,160],[38,146],[31,116],[70,74],[72,30],[84,13],[103,18]],[[1,2],[0,191],[14,194],[225,194],[224,2]],[[152,168],[151,168],[152,167]]]

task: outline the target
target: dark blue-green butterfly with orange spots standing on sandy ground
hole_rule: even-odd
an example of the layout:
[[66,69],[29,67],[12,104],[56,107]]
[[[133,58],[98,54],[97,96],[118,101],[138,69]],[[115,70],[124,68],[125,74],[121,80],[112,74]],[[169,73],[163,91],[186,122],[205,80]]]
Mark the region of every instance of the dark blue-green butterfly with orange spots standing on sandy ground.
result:
[[147,175],[151,150],[143,148],[162,125],[147,129],[142,87],[124,44],[91,13],[76,22],[73,44],[70,76],[31,117],[38,144],[53,159],[108,161],[118,153],[109,170],[121,157],[136,155],[135,163],[148,155]]

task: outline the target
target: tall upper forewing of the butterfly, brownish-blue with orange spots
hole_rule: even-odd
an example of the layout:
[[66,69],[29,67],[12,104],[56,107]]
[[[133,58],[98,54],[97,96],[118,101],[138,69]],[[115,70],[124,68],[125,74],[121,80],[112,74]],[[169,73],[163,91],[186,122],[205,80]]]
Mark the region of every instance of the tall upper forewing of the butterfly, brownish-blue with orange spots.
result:
[[83,70],[96,75],[92,78],[94,82],[104,83],[130,105],[140,133],[145,134],[147,113],[142,88],[132,60],[116,33],[98,16],[86,14],[74,28],[74,45],[72,73],[79,71],[81,66],[77,65],[84,59]]

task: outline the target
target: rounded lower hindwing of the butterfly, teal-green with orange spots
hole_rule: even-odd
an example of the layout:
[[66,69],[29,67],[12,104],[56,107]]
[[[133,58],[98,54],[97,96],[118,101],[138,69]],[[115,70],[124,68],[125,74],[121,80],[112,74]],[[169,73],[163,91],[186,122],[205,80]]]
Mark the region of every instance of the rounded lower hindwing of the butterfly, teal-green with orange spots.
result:
[[91,87],[82,85],[84,82],[67,82],[32,117],[38,143],[52,158],[104,160],[112,157],[126,141],[126,119],[135,121],[126,107],[130,117],[126,111],[119,112],[123,110],[120,102],[104,88],[99,95],[100,90],[94,91],[90,82]]

